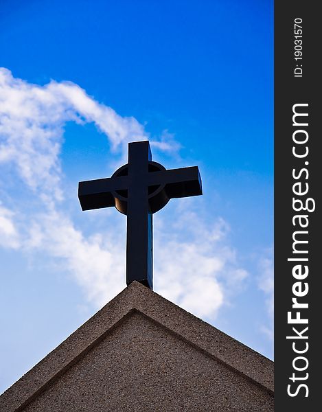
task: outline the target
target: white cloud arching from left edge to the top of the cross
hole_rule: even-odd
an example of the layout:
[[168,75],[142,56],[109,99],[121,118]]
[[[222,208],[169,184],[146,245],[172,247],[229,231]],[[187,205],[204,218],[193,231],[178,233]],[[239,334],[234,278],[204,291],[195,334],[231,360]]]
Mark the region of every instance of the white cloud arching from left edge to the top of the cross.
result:
[[77,84],[52,80],[41,87],[0,69],[0,163],[14,163],[27,185],[56,200],[62,197],[59,155],[63,126],[71,120],[94,122],[113,149],[147,139],[136,119],[117,115]]

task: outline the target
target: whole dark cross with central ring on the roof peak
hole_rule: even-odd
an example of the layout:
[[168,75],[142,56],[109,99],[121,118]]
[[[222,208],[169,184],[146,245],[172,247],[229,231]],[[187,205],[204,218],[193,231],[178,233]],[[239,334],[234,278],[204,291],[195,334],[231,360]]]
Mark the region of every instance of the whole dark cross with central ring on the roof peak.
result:
[[82,210],[115,206],[127,216],[126,284],[152,289],[152,214],[171,198],[203,194],[197,166],[166,170],[148,141],[128,144],[128,163],[110,178],[78,183]]

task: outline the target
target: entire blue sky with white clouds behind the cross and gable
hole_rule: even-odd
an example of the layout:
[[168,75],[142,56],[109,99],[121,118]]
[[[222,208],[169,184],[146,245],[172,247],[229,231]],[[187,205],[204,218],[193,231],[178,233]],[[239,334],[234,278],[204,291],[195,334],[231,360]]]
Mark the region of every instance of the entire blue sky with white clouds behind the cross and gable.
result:
[[2,1],[0,49],[0,390],[125,287],[77,185],[137,139],[203,179],[154,216],[154,290],[272,358],[273,2]]

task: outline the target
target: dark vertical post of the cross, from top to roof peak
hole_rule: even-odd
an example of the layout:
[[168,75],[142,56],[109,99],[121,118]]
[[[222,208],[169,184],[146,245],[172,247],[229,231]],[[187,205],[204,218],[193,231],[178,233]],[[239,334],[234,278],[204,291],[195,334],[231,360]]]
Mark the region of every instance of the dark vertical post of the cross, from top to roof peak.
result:
[[128,144],[126,284],[137,280],[152,289],[152,212],[148,204],[151,159],[148,141]]

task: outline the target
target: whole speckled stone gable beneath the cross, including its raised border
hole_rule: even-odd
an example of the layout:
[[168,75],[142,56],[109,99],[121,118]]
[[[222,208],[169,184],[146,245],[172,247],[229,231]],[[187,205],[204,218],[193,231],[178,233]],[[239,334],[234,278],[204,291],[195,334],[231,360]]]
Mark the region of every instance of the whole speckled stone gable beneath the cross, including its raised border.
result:
[[133,282],[0,397],[0,411],[273,411],[273,362]]

